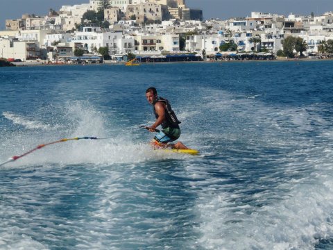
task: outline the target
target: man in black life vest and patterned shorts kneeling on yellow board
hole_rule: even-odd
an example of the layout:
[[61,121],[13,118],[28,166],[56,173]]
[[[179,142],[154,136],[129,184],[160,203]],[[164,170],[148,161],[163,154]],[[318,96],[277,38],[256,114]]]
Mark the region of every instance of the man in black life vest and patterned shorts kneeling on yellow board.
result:
[[153,140],[154,147],[173,147],[175,149],[188,149],[182,142],[176,144],[168,144],[180,137],[180,128],[175,113],[171,109],[170,103],[167,99],[157,97],[157,90],[153,87],[146,90],[146,99],[151,103],[154,108],[156,121],[153,125],[148,127],[150,132],[155,132],[157,126],[162,126],[162,131],[155,135]]

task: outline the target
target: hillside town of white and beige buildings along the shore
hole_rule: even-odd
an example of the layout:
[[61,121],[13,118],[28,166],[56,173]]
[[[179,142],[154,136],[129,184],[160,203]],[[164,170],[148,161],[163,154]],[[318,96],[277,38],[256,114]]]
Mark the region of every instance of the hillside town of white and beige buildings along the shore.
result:
[[89,0],[50,9],[45,16],[7,19],[0,31],[0,58],[171,62],[333,53],[333,12],[249,15],[203,20],[203,11],[188,8],[185,0]]

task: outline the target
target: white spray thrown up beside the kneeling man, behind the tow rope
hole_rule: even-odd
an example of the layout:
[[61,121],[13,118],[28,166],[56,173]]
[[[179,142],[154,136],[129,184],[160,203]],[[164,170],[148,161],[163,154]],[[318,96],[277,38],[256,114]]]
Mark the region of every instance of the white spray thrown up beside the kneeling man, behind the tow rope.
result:
[[[146,142],[134,142],[135,130],[120,128],[117,124],[107,122],[103,113],[94,110],[89,103],[67,103],[60,108],[58,117],[61,126],[42,124],[37,120],[29,120],[20,115],[5,112],[5,117],[15,125],[24,125],[18,132],[3,135],[1,158],[20,155],[39,144],[46,144],[62,138],[75,138],[83,136],[96,136],[107,138],[103,140],[73,140],[61,142],[44,147],[8,166],[34,166],[34,165],[110,165],[114,163],[137,163],[157,158],[177,158],[176,154],[152,151]],[[40,114],[43,115],[43,114]],[[113,126],[112,126],[113,125]],[[33,131],[31,131],[33,129]],[[123,131],[126,131],[123,133]],[[21,145],[21,147],[18,147]]]

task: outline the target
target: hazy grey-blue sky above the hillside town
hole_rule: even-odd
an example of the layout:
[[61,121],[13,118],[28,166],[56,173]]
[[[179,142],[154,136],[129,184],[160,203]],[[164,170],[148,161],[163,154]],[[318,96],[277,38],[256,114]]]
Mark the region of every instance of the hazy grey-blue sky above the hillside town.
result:
[[[59,10],[63,5],[89,3],[89,0],[0,0],[0,30],[6,19],[17,19],[22,14],[46,15],[50,8]],[[333,11],[333,0],[186,0],[189,8],[203,10],[203,18],[228,19],[249,17],[252,11],[289,15],[321,15]]]

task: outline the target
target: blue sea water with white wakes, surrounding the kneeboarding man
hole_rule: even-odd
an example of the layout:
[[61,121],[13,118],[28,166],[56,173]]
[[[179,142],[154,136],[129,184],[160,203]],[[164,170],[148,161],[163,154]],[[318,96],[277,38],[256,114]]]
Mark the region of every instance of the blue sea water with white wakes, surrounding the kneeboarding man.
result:
[[[0,68],[0,249],[331,249],[332,61]],[[198,156],[153,151],[155,86]]]

